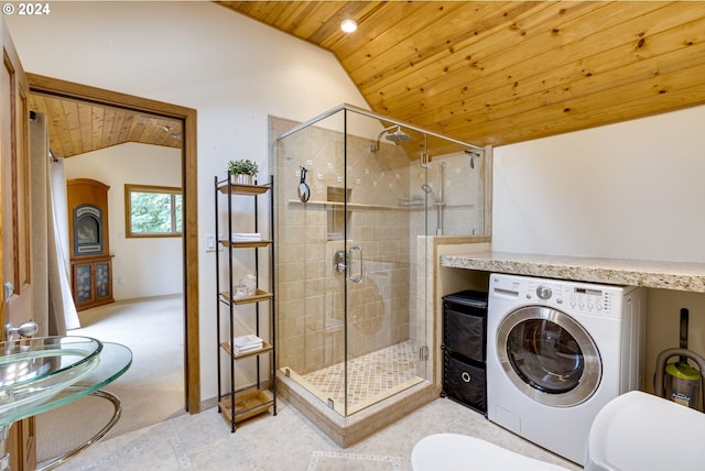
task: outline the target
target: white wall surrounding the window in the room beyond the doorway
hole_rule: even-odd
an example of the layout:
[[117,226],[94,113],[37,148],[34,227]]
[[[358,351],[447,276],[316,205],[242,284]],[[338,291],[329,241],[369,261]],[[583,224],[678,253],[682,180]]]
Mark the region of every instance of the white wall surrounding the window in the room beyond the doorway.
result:
[[182,238],[130,238],[124,184],[181,187],[181,149],[127,143],[64,160],[66,178],[110,186],[108,222],[116,300],[183,293]]

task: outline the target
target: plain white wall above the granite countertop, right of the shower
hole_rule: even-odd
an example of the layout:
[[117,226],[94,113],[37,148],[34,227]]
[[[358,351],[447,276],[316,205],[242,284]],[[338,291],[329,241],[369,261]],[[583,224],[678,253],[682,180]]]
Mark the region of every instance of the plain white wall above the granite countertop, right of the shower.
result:
[[705,262],[705,107],[495,149],[492,249]]

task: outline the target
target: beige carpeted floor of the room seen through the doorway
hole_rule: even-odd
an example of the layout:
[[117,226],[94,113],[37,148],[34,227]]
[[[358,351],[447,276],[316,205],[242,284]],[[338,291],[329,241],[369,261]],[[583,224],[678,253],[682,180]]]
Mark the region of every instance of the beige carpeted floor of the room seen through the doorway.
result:
[[[158,424],[184,413],[184,332],[181,296],[118,302],[79,313],[82,328],[68,335],[122,343],[132,365],[105,390],[122,402],[122,417],[104,438]],[[36,418],[37,461],[63,454],[97,432],[112,405],[94,396]]]

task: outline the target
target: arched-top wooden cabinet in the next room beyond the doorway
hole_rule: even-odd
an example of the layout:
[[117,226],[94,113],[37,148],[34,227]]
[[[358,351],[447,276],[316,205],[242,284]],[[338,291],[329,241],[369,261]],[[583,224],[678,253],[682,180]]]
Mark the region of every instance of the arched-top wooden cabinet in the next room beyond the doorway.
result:
[[89,178],[66,182],[72,289],[76,309],[112,303],[108,190]]

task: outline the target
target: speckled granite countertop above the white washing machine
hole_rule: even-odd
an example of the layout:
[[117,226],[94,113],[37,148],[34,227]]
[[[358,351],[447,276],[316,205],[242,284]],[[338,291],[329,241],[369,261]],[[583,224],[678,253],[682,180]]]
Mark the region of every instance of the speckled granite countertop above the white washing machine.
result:
[[478,252],[442,255],[441,266],[705,293],[705,263]]

